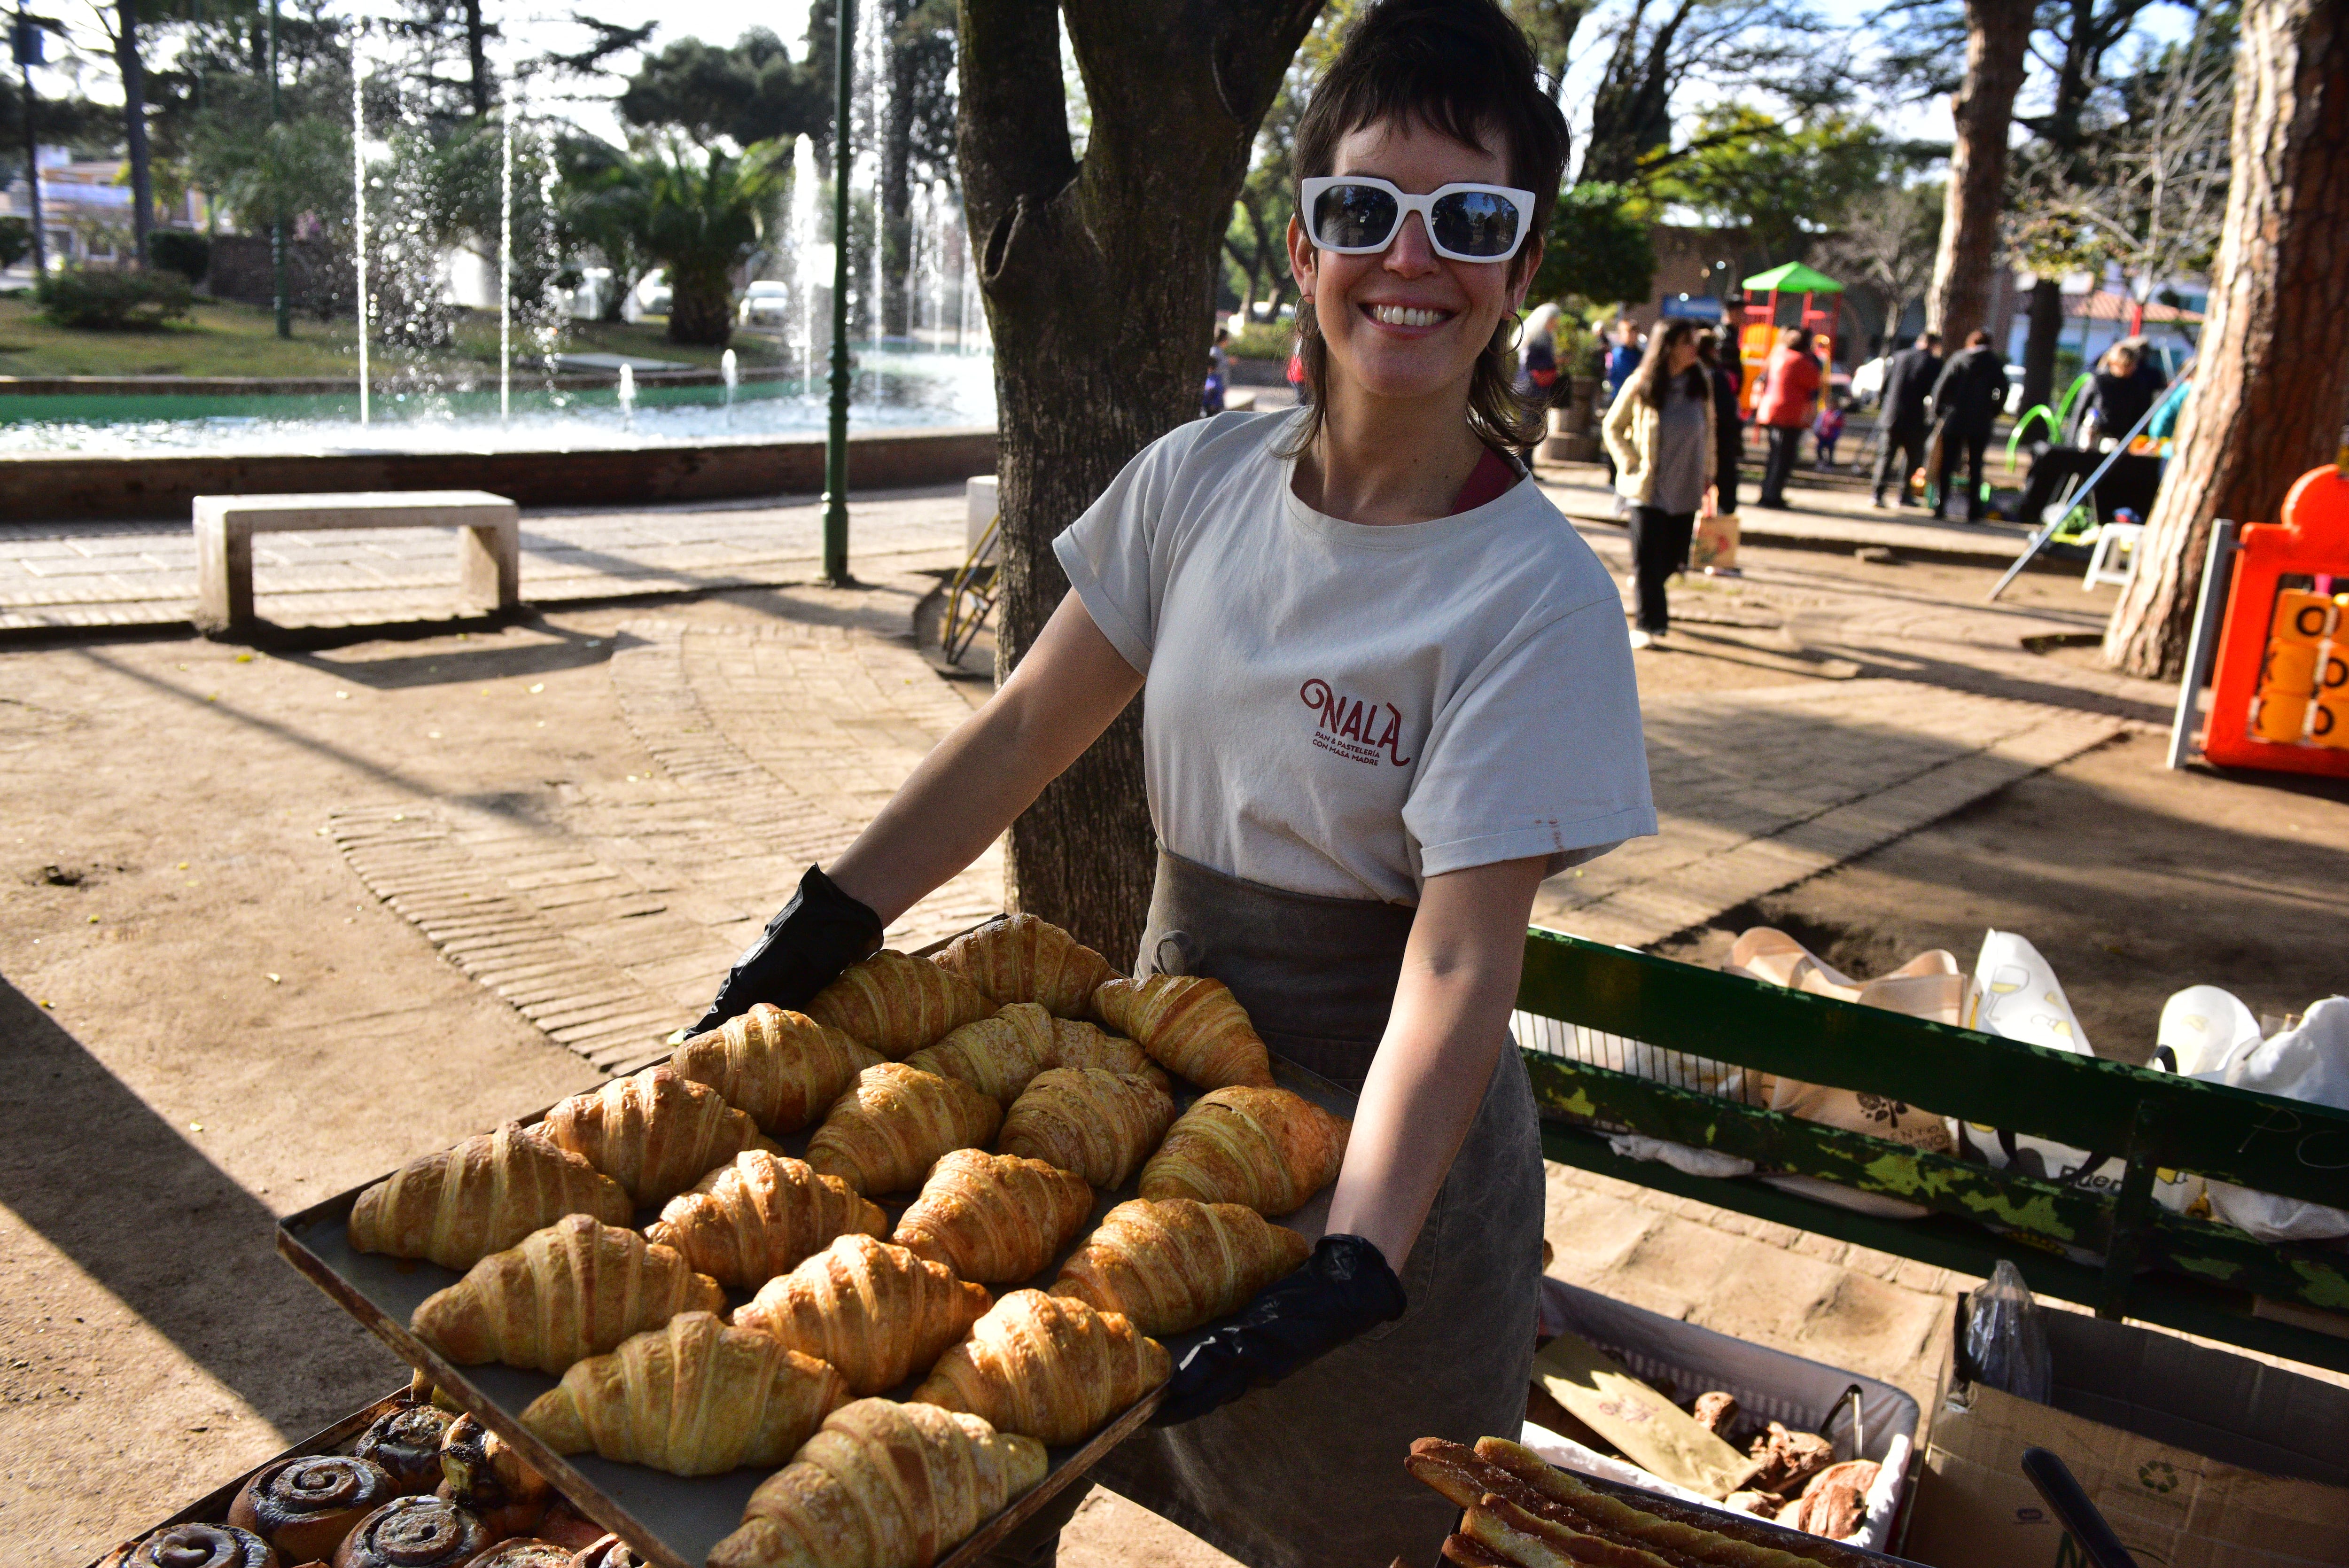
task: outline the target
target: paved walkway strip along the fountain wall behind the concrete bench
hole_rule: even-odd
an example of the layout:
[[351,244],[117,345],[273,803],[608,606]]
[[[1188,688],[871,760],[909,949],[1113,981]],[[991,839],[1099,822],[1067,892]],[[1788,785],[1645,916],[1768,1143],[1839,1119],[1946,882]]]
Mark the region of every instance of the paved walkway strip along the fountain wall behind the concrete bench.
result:
[[[853,496],[850,557],[961,555],[963,491]],[[761,588],[815,574],[822,508],[693,503],[521,517],[521,597],[533,604],[632,592]],[[254,595],[277,625],[369,625],[453,616],[449,529],[270,534],[254,541]],[[0,524],[0,632],[186,625],[195,536],[186,522]]]

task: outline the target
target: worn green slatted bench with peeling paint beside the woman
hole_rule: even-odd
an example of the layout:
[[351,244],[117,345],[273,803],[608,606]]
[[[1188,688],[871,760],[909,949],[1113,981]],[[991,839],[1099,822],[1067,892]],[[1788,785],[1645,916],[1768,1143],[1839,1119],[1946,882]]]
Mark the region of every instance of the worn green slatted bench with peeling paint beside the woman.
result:
[[[1517,1009],[2128,1161],[2116,1192],[2088,1192],[1614,1072],[1527,1044],[1571,1032],[1520,1030],[1543,1110],[1543,1152],[1560,1164],[1966,1274],[1990,1274],[2008,1258],[2032,1291],[2102,1316],[2349,1371],[2349,1316],[2337,1319],[2344,1335],[2335,1335],[2300,1312],[2349,1314],[2349,1251],[2257,1241],[2175,1215],[2152,1197],[2154,1173],[2168,1168],[2349,1208],[2349,1112],[2022,1046],[1555,931],[1527,933]],[[1755,1178],[1684,1175],[1614,1154],[1593,1121],[1933,1213],[1889,1220]],[[2062,1248],[2105,1262],[2074,1262]],[[2274,1305],[2262,1312],[2260,1298]]]

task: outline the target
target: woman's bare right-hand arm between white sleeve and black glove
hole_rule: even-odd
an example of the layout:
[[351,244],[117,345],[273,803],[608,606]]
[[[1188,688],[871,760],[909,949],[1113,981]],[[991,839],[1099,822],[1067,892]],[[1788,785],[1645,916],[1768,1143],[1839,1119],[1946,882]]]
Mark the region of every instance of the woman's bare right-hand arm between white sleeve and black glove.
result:
[[1330,1232],[1367,1237],[1398,1274],[1508,1044],[1536,886],[1541,860],[1503,860],[1421,891],[1330,1199]]

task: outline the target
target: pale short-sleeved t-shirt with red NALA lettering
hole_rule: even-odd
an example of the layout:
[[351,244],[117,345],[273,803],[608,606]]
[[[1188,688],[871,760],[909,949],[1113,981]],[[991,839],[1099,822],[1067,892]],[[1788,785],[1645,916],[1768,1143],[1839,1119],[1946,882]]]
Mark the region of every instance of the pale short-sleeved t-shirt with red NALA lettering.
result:
[[1055,543],[1144,672],[1160,842],[1294,893],[1419,903],[1426,877],[1656,832],[1614,578],[1534,484],[1365,527],[1306,508],[1292,411],[1146,447]]

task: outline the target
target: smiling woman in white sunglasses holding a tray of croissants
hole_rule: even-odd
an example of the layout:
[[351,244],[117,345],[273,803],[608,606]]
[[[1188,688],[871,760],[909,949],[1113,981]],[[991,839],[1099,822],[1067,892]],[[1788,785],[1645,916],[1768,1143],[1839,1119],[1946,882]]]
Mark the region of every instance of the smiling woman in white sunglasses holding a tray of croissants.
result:
[[[1362,9],[1297,148],[1313,402],[1125,465],[1055,541],[1071,592],[1027,658],[716,1001],[801,1006],[1149,689],[1137,978],[1219,980],[1273,1056],[1358,1093],[1308,1262],[1092,1472],[1252,1568],[1431,1561],[1454,1509],[1412,1486],[1412,1439],[1525,1418],[1527,914],[1543,877],[1656,830],[1621,597],[1508,456],[1510,317],[1564,158],[1522,33],[1494,0]],[[1048,1566],[1081,1497],[991,1561]]]

